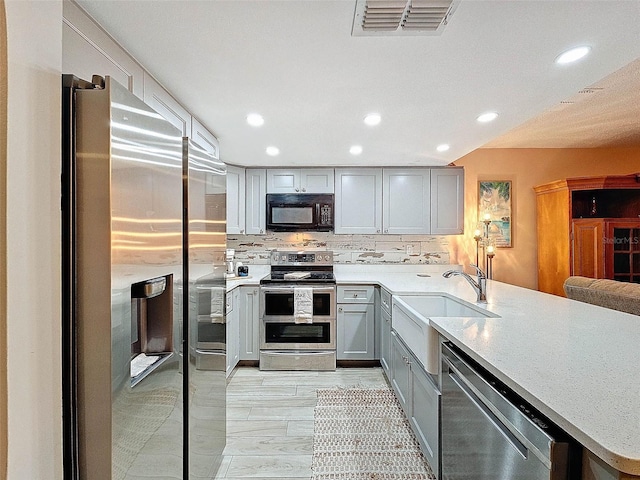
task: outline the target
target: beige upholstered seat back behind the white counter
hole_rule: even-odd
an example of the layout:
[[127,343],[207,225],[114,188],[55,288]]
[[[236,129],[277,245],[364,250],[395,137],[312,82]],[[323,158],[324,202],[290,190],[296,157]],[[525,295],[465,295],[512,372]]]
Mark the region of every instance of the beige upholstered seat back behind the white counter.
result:
[[574,300],[640,315],[640,284],[637,283],[569,277],[564,282],[564,292]]

